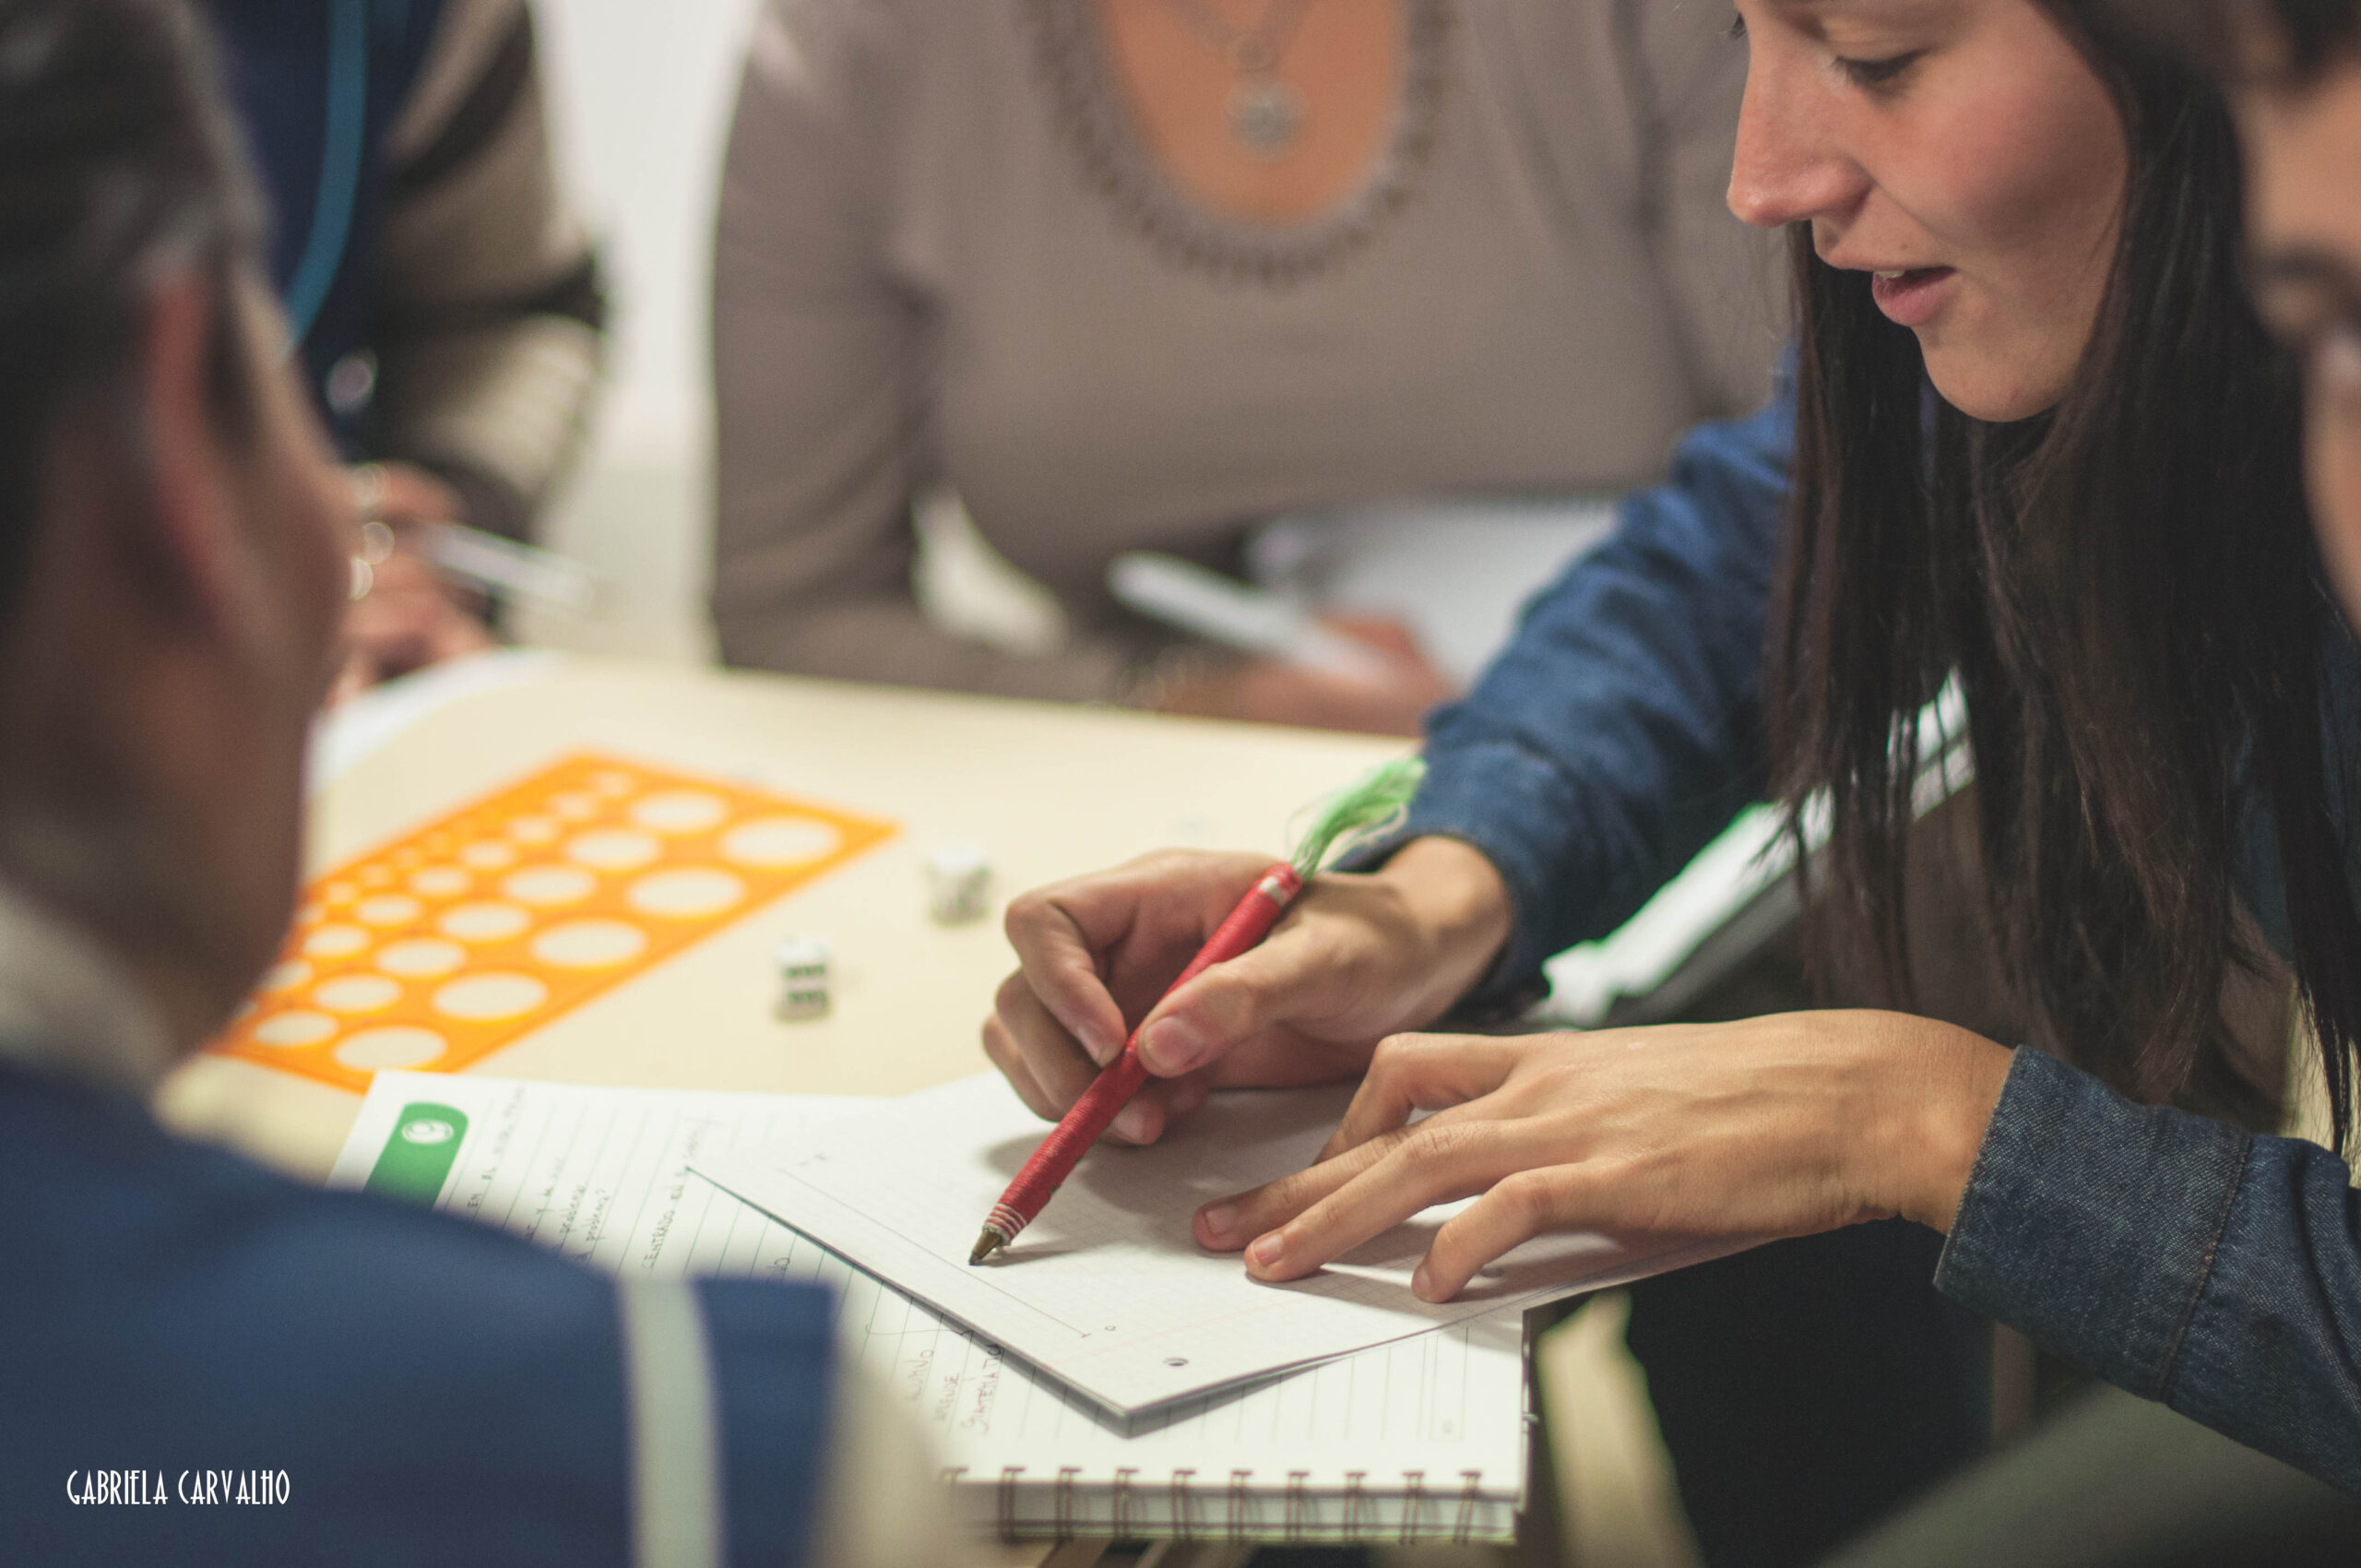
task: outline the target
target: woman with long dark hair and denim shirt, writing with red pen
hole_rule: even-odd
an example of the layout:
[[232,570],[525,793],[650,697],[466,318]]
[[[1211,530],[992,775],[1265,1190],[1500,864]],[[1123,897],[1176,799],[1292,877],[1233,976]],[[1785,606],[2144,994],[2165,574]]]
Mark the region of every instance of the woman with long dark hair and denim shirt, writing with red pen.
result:
[[[1905,1216],[1948,1233],[1950,1301],[2361,1488],[2347,1167],[2252,1131],[2283,1037],[2238,1027],[2293,961],[2344,1145],[2361,659],[2304,531],[2295,375],[2238,276],[2226,111],[2080,0],[1738,9],[1731,205],[1794,234],[1792,401],[1690,437],[1535,605],[1433,720],[1372,874],[1155,1006],[1164,1082],[1119,1131],[1367,1070],[1322,1164],[1197,1233],[1284,1280],[1476,1195],[1419,1270],[1433,1299],[1544,1228]],[[1919,713],[1953,678],[2014,1053],[1912,1011]],[[1816,949],[1882,1008],[1393,1034],[1516,999],[1764,789],[1799,838],[1825,810]],[[1018,1091],[1062,1110],[1119,999],[1258,867],[1166,855],[1013,904],[1025,968],[985,1044]]]

